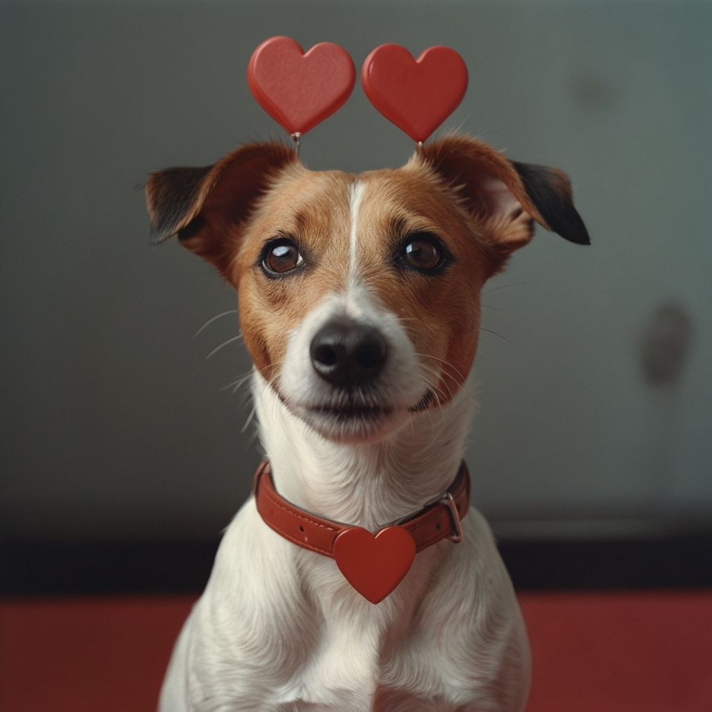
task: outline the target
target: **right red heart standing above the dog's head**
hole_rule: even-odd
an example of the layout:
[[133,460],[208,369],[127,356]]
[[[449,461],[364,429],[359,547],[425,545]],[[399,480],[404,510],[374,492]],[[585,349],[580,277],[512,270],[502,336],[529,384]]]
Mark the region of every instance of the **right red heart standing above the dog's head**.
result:
[[414,141],[424,141],[457,108],[467,90],[467,66],[449,47],[429,47],[414,59],[406,48],[375,48],[361,70],[369,101]]

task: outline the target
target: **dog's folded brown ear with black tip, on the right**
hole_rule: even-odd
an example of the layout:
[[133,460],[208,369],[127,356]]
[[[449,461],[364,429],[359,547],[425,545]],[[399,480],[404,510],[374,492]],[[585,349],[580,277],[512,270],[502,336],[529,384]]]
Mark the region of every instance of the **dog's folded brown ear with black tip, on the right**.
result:
[[489,237],[504,253],[530,241],[532,220],[570,242],[590,244],[564,172],[510,161],[486,143],[457,135],[425,145],[421,158],[468,210],[488,221]]

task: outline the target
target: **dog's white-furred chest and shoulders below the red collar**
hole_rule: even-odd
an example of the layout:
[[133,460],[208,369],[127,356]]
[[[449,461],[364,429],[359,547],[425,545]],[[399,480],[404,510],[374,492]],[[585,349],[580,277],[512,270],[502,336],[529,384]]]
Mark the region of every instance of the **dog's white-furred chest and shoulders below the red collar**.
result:
[[[247,506],[226,533],[174,652],[162,711],[520,710],[524,630],[476,512],[463,543],[420,553],[377,606],[350,590],[333,560],[271,530],[236,546],[256,516]],[[464,599],[477,602],[465,616]]]

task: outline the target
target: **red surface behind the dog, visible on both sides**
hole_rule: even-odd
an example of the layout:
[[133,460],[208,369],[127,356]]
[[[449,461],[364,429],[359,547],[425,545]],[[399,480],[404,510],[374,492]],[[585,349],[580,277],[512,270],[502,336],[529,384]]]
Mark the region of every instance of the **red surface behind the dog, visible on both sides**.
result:
[[[528,712],[709,712],[712,592],[524,594]],[[192,598],[0,603],[2,712],[155,710]]]

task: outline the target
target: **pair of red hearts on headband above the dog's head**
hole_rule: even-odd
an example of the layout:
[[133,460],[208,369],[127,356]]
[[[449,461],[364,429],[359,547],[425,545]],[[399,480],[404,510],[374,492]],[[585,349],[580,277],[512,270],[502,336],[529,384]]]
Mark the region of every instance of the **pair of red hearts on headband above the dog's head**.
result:
[[[368,100],[419,145],[458,107],[467,79],[463,58],[443,46],[414,59],[406,48],[384,44],[361,69]],[[301,136],[344,105],[356,72],[349,53],[337,44],[322,42],[305,52],[292,38],[272,37],[253,52],[247,81],[259,105],[298,148]]]

